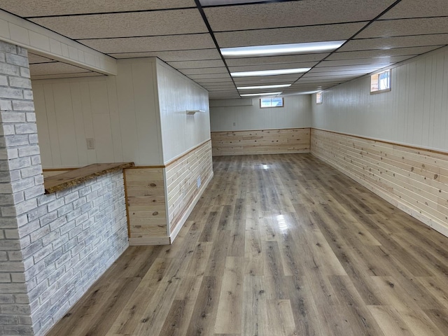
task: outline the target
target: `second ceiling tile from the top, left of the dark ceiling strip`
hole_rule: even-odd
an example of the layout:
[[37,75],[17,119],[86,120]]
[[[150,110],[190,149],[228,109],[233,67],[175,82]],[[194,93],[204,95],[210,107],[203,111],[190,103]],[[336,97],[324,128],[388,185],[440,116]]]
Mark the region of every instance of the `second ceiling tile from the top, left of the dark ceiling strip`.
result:
[[197,9],[76,15],[31,19],[73,39],[158,36],[207,32]]

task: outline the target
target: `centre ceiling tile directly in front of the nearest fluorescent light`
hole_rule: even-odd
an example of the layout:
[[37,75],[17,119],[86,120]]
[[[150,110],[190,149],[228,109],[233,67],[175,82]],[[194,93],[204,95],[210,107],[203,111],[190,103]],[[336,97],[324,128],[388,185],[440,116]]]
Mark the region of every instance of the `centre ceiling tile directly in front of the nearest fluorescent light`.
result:
[[346,40],[367,22],[215,33],[220,48]]

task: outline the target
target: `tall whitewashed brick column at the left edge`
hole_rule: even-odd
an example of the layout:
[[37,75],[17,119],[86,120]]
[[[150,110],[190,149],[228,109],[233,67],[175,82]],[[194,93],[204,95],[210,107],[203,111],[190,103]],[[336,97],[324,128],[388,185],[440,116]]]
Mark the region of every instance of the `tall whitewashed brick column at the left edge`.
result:
[[[34,335],[25,269],[31,209],[43,194],[27,50],[0,41],[0,335]],[[27,259],[27,262],[24,260]],[[32,259],[32,258],[31,258]]]

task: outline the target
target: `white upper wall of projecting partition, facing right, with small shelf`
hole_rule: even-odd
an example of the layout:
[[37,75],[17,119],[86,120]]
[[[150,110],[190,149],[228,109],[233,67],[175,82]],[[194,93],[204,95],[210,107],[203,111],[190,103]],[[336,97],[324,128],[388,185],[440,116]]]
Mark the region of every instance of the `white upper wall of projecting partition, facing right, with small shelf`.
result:
[[[209,94],[158,60],[158,97],[163,160],[169,162],[210,139]],[[187,110],[202,110],[188,116]]]

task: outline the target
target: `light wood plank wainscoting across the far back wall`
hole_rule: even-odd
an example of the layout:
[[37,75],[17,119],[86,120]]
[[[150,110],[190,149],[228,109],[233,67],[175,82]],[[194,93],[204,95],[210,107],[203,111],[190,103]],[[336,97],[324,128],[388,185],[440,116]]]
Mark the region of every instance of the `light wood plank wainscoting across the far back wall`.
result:
[[309,153],[310,129],[211,132],[213,156]]

